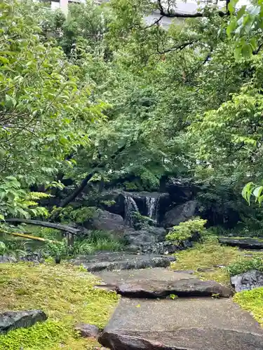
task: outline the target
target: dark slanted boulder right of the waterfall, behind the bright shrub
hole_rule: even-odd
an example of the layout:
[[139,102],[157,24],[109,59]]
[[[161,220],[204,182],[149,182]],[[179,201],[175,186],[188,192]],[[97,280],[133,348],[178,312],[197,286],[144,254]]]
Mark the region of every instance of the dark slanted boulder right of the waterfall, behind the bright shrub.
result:
[[171,226],[179,225],[180,223],[189,220],[189,218],[196,214],[196,207],[197,201],[190,200],[184,204],[180,204],[173,209],[170,209],[167,211],[163,219],[163,226],[165,228],[170,228]]

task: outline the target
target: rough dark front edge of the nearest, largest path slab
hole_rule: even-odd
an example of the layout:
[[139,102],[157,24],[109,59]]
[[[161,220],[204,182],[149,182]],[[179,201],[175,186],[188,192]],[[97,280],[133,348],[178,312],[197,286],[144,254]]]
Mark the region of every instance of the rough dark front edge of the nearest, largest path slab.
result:
[[217,328],[181,328],[170,332],[103,332],[100,343],[112,350],[262,350],[263,337]]

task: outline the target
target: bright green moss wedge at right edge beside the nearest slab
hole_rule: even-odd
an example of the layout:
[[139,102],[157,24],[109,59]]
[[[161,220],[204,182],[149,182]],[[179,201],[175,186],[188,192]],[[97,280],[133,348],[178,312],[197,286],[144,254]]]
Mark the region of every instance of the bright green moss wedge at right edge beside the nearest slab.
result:
[[236,293],[234,301],[250,311],[257,322],[263,325],[263,287]]

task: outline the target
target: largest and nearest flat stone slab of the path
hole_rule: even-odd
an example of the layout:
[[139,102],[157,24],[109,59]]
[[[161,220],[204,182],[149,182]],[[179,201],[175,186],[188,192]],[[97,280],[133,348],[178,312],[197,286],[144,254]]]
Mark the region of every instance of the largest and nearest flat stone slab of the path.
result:
[[112,350],[262,350],[263,330],[231,299],[121,299],[99,342]]

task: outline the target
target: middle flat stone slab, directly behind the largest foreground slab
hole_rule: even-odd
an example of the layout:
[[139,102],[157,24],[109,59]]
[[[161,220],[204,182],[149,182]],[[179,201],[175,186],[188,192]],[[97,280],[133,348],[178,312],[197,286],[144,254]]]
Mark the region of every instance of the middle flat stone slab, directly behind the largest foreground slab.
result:
[[[101,272],[102,288],[116,290],[125,297],[167,297],[174,294],[178,297],[208,297],[217,295],[230,297],[231,288],[215,281],[201,281],[194,275],[184,272],[173,272],[163,268],[135,269],[133,271]],[[100,286],[98,286],[100,287]]]

